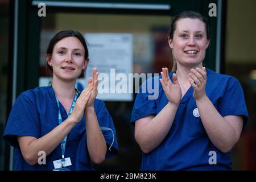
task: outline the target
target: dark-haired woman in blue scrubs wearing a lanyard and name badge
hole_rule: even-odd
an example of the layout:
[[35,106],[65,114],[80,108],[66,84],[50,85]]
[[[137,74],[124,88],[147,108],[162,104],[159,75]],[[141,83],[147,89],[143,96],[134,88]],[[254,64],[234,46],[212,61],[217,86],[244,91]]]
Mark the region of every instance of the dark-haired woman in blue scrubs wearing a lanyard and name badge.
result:
[[76,78],[88,65],[88,48],[76,31],[60,31],[46,61],[52,85],[27,90],[16,99],[4,138],[15,148],[14,170],[93,170],[117,155],[115,127],[97,100],[98,72],[80,93]]

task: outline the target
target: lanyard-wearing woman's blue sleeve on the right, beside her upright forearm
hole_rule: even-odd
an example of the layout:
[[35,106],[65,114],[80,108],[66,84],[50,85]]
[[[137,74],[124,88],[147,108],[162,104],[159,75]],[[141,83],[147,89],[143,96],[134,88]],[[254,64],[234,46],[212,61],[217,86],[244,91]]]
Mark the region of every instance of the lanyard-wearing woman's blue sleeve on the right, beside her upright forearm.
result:
[[117,143],[117,134],[115,131],[115,126],[113,119],[109,114],[109,111],[106,109],[106,106],[103,101],[97,100],[97,119],[102,131],[102,134],[106,140],[108,150],[106,152],[106,158],[110,158],[118,154],[118,143]]

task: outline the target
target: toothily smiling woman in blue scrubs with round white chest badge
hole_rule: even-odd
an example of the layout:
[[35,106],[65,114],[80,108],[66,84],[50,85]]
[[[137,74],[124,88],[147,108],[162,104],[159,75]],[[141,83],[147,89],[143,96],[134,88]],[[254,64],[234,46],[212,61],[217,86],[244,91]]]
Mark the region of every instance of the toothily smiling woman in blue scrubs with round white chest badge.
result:
[[131,116],[142,170],[231,169],[230,150],[248,113],[240,82],[203,67],[209,42],[202,15],[184,11],[174,18],[168,36],[172,72],[163,68],[155,100],[148,92],[137,94]]

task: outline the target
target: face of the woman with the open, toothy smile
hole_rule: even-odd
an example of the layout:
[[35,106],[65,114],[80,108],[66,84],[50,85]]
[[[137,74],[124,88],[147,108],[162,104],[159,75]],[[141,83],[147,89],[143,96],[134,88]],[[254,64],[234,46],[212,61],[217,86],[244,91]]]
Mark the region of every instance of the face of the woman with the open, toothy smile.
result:
[[176,31],[168,42],[177,64],[199,67],[210,40],[200,19],[184,18],[177,22]]

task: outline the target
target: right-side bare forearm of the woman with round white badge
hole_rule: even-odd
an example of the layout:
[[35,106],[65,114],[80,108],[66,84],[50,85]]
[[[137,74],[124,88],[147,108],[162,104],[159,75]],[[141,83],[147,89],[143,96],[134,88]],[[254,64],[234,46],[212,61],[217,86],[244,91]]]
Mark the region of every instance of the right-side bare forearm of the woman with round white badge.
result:
[[210,141],[222,152],[228,152],[237,142],[233,127],[218,113],[207,96],[196,101],[200,118]]

